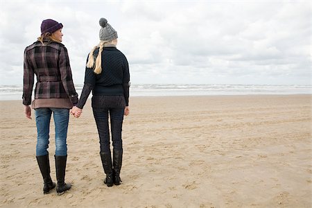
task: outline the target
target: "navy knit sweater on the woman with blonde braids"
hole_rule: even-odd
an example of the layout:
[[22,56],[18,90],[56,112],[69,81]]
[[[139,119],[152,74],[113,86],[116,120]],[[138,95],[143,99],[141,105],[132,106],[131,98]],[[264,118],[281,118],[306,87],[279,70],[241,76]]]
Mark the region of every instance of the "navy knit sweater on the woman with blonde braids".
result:
[[[94,51],[94,57],[98,55],[98,50]],[[105,96],[106,98],[107,96],[123,96],[125,105],[128,106],[129,83],[129,65],[125,55],[116,47],[104,47],[102,51],[102,72],[96,74],[94,69],[86,67],[85,85],[76,106],[83,108],[91,91],[93,96]],[[96,103],[92,103],[92,107],[96,107],[94,104],[96,105]]]

